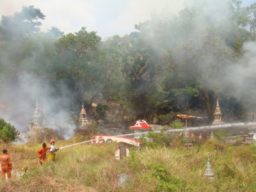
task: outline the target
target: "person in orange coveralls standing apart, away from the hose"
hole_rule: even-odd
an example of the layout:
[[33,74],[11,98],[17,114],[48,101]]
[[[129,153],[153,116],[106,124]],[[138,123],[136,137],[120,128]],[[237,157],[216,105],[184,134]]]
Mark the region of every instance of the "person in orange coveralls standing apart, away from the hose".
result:
[[1,179],[5,179],[5,173],[7,173],[8,179],[12,179],[12,163],[10,156],[7,154],[7,150],[4,148],[3,149],[3,155],[0,156],[1,160]]

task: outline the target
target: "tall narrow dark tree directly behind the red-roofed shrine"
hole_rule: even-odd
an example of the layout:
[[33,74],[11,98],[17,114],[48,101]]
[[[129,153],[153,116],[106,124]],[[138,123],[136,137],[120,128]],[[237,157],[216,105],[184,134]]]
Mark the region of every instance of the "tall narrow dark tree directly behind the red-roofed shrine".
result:
[[[139,118],[152,112],[152,100],[156,90],[154,51],[138,39],[132,52],[125,56],[124,76],[127,77],[127,100]],[[139,48],[139,49],[138,49]]]

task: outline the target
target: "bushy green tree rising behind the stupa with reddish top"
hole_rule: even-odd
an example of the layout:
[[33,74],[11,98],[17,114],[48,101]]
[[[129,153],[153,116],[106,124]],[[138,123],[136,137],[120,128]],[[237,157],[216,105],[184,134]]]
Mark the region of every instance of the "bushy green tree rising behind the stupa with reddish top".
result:
[[100,66],[100,36],[95,31],[81,28],[77,33],[63,35],[56,42],[58,64],[52,68],[58,81],[64,81],[70,88],[72,103],[74,100],[92,102],[94,95],[102,90]]

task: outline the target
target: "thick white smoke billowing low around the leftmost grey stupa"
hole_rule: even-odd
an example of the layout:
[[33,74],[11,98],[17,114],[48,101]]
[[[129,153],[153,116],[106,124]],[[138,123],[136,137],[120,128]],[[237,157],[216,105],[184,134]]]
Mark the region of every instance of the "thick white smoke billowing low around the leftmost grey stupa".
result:
[[[11,122],[18,131],[26,131],[29,122],[33,122],[33,111],[38,99],[43,113],[42,127],[59,129],[68,138],[72,136],[74,125],[70,124],[70,99],[64,84],[56,90],[47,81],[32,74],[19,73],[17,79],[1,79],[0,117]],[[77,111],[78,113],[78,111]]]

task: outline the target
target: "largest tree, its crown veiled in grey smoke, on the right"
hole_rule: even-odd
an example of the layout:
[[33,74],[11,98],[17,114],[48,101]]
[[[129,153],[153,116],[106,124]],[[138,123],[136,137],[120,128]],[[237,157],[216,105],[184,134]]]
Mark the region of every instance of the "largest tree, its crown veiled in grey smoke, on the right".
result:
[[218,92],[225,89],[222,69],[234,59],[230,47],[237,45],[238,51],[243,36],[237,35],[235,18],[217,23],[204,9],[205,4],[184,8],[177,17],[154,17],[136,29],[141,38],[154,42],[152,49],[159,58],[156,83],[163,95],[160,102],[170,100],[180,110],[200,107],[211,117]]

